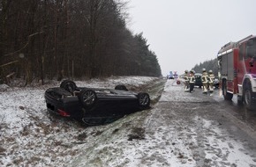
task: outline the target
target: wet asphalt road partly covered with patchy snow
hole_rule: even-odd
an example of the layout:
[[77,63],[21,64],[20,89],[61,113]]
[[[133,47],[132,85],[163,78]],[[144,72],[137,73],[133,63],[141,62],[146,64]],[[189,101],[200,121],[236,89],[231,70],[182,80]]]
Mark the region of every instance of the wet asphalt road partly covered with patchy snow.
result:
[[219,90],[205,95],[200,88],[190,93],[183,87],[168,80],[147,118],[152,148],[168,155],[158,158],[163,166],[255,167],[256,112],[237,105],[236,98],[225,101]]

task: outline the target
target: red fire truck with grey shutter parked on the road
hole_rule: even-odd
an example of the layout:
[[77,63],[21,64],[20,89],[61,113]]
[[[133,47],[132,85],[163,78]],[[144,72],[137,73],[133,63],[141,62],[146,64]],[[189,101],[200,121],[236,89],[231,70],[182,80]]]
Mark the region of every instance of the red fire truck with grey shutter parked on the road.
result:
[[218,52],[219,78],[222,95],[256,110],[256,36],[230,42]]

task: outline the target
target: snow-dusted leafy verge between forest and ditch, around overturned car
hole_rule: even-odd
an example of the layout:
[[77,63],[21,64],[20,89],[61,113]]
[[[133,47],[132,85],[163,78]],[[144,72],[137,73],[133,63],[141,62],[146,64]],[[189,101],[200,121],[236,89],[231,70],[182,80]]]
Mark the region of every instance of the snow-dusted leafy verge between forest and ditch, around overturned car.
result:
[[[76,84],[102,88],[125,84],[132,89],[155,79],[124,76]],[[96,142],[95,136],[103,133],[107,126],[86,128],[75,120],[49,114],[44,91],[54,86],[59,83],[25,88],[0,85],[0,166],[69,166],[74,157]]]

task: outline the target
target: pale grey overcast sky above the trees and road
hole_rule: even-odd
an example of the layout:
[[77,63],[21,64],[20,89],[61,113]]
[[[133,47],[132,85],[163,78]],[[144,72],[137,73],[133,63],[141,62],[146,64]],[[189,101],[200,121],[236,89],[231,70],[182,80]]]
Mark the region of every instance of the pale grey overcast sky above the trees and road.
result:
[[256,35],[256,0],[130,0],[128,6],[128,26],[143,33],[163,76],[182,74],[214,59],[226,43]]

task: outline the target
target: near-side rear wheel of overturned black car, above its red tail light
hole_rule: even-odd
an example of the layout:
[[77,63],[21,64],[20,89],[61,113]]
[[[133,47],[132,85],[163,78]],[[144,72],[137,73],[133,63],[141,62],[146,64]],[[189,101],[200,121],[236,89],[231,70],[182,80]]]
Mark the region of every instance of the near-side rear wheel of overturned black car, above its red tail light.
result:
[[90,108],[97,100],[96,92],[93,90],[84,89],[79,94],[79,100],[85,108]]

